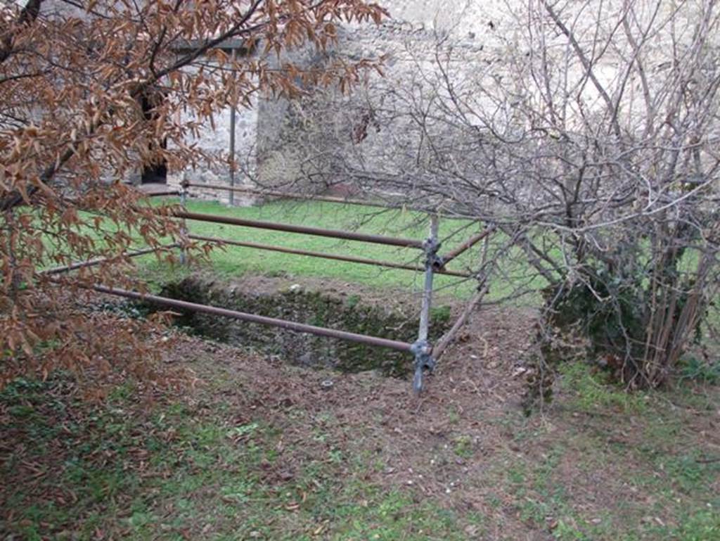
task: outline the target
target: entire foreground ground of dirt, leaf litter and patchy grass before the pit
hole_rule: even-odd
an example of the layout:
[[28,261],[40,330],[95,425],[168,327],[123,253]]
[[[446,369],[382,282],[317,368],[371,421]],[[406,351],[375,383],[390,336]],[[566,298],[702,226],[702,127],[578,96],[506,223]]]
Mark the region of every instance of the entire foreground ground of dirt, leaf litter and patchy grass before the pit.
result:
[[474,313],[419,398],[177,331],[179,393],[24,383],[0,401],[1,538],[720,539],[718,388],[628,397],[573,368],[526,417],[531,339],[528,313]]

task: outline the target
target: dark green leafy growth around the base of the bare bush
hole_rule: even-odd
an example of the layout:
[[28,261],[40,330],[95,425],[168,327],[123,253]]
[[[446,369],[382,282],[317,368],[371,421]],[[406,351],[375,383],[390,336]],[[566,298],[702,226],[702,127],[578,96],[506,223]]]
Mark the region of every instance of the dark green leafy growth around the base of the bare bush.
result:
[[[670,270],[666,272],[674,277]],[[567,346],[559,348],[560,355],[551,350],[556,335],[562,334],[564,344],[580,344],[575,354],[596,362],[628,388],[667,383],[683,352],[701,339],[704,296],[690,278],[663,282],[662,287],[673,290],[668,297],[665,290],[654,290],[642,274],[619,276],[603,269],[590,274],[587,280],[544,291],[543,323],[551,330],[541,335],[546,362],[552,365],[557,357],[567,356]]]

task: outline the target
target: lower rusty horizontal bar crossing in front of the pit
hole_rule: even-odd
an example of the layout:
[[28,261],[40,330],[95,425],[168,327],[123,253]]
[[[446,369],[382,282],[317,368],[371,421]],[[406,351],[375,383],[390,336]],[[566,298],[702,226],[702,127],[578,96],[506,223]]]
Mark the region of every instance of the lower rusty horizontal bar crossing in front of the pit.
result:
[[167,297],[160,297],[158,295],[150,295],[138,293],[135,291],[121,290],[114,287],[105,287],[104,285],[95,285],[92,288],[101,293],[117,295],[119,297],[125,297],[135,300],[144,300],[148,303],[169,306],[171,308],[178,308],[179,310],[190,310],[192,312],[207,313],[211,316],[222,316],[225,318],[239,319],[240,321],[248,321],[250,323],[261,323],[262,325],[286,328],[288,331],[316,334],[318,336],[326,336],[327,338],[353,341],[360,344],[368,344],[370,346],[387,347],[400,352],[410,352],[410,348],[413,345],[408,344],[408,342],[401,342],[386,338],[378,338],[377,336],[366,336],[364,334],[349,333],[346,331],[337,331],[333,328],[316,327],[314,325],[306,325],[305,323],[296,323],[294,321],[286,321],[284,319],[268,318],[266,316],[256,316],[255,314],[238,312],[236,310],[228,310],[227,308],[217,308],[216,306],[189,303],[186,300],[177,300]]

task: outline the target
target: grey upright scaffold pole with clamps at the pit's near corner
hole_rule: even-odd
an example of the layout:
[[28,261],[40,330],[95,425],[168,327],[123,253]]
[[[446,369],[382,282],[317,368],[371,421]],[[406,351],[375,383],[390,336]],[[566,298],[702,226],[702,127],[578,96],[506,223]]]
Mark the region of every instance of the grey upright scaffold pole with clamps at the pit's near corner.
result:
[[431,346],[428,343],[428,329],[430,328],[430,307],[433,299],[433,270],[435,267],[438,249],[438,217],[430,217],[430,236],[423,243],[425,249],[425,284],[423,285],[423,304],[420,308],[420,328],[418,339],[413,344],[412,352],[415,355],[415,377],[413,377],[413,390],[415,394],[423,390],[423,370],[432,372],[435,359],[431,356]]

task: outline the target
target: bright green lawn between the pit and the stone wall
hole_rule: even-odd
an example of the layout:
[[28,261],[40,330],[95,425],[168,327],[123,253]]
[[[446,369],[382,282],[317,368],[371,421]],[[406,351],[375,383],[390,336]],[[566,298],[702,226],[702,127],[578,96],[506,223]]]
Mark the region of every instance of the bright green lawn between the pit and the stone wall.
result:
[[[151,205],[163,203],[179,203],[177,197],[163,197],[152,200]],[[429,218],[424,213],[405,210],[388,210],[379,207],[361,207],[358,205],[339,205],[325,202],[297,202],[284,200],[269,202],[253,207],[228,207],[218,202],[189,200],[186,208],[193,213],[232,216],[251,220],[264,220],[276,223],[306,225],[325,229],[340,229],[358,231],[384,236],[395,236],[423,241],[428,236]],[[90,218],[85,216],[85,218]],[[285,233],[283,231],[270,231],[260,228],[248,228],[237,225],[187,220],[189,233],[199,236],[211,236],[235,241],[250,241],[274,246],[282,246],[306,251],[324,252],[373,259],[376,261],[390,261],[393,263],[409,264],[423,267],[424,254],[420,249],[403,249],[396,246],[367,243],[362,241],[343,241],[341,239],[323,236],[310,236],[299,233]],[[114,233],[118,225],[106,223],[103,225],[109,233]],[[480,223],[472,220],[459,220],[441,218],[439,227],[440,255],[456,248],[467,241],[475,233],[482,231]],[[80,226],[78,235],[90,236],[96,246],[103,246],[101,231],[91,230]],[[127,232],[136,238],[133,248],[145,247],[145,243],[137,233]],[[160,239],[161,243],[169,243],[170,239]],[[502,259],[500,269],[490,276],[490,291],[488,300],[501,300],[518,290],[529,292],[527,303],[537,305],[539,295],[533,294],[545,285],[531,272],[527,261],[520,249],[513,247],[509,252],[498,254],[498,250],[507,241],[503,233],[492,233],[488,238],[488,259],[493,254]],[[66,253],[68,246],[57,241],[48,246],[48,254]],[[448,264],[449,270],[456,272],[477,272],[480,267],[483,243],[477,243]],[[77,259],[77,258],[76,258]],[[168,280],[176,280],[184,276],[187,267],[168,267],[165,261],[158,261],[152,254],[139,256],[134,261],[140,267],[140,274],[147,278],[151,285],[161,285]],[[376,267],[369,264],[358,264],[344,261],[333,261],[312,256],[282,254],[276,251],[267,251],[241,246],[226,245],[212,250],[210,261],[202,261],[202,266],[209,263],[209,268],[219,277],[240,277],[243,274],[260,274],[265,276],[282,277],[315,277],[340,280],[353,284],[374,287],[380,290],[406,290],[420,292],[423,287],[423,272],[405,269],[391,269]],[[57,263],[50,256],[42,265],[45,268],[54,267]],[[197,269],[196,267],[193,267]],[[435,274],[434,291],[441,295],[455,298],[469,298],[477,288],[474,278],[454,277],[444,274]]]

